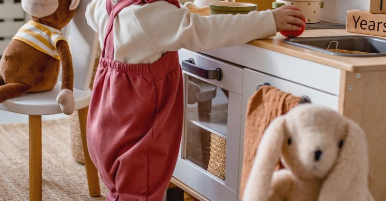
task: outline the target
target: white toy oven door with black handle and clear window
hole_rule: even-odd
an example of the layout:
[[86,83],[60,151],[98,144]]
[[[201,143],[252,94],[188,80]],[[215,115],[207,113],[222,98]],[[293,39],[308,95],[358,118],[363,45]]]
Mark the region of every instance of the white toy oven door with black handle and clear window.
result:
[[205,198],[237,201],[243,69],[179,51],[185,116],[174,177]]

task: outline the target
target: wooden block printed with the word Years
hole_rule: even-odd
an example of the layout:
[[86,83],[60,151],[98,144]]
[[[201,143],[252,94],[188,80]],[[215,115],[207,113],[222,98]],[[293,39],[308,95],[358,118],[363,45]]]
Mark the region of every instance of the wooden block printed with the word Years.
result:
[[360,10],[347,11],[346,31],[386,36],[386,15]]

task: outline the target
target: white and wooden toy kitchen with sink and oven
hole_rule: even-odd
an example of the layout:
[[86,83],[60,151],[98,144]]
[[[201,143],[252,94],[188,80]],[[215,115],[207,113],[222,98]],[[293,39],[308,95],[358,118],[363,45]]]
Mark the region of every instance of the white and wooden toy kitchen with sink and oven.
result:
[[[258,10],[271,9],[273,2],[239,1],[255,3]],[[384,17],[386,3],[273,3],[304,8],[306,30],[300,37],[278,33],[241,46],[179,51],[185,120],[172,182],[201,201],[238,201],[243,154],[248,151],[244,144],[248,100],[258,86],[271,85],[332,108],[362,126],[369,145],[369,189],[374,200],[386,201],[386,40],[382,37],[386,35],[378,35],[376,29],[369,32],[370,21]],[[386,26],[386,18],[384,22]],[[355,30],[365,23],[367,32]]]

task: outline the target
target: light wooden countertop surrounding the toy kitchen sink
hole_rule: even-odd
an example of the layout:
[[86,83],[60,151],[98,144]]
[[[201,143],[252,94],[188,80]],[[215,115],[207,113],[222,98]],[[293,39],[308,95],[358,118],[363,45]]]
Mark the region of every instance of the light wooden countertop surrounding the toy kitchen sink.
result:
[[[305,30],[301,37],[361,35],[348,33],[345,29]],[[322,63],[351,72],[386,70],[386,57],[342,57],[328,55],[303,47],[285,44],[280,33],[268,39],[254,40],[248,44],[284,53],[305,60]]]

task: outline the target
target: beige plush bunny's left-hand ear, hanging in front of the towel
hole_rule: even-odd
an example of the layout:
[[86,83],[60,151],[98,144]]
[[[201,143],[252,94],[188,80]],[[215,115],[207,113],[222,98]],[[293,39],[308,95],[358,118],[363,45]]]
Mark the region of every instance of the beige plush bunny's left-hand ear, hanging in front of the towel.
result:
[[279,161],[285,139],[285,117],[269,124],[252,165],[243,201],[268,201],[273,171]]

